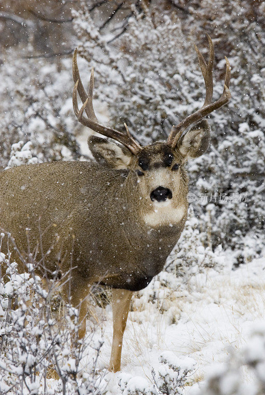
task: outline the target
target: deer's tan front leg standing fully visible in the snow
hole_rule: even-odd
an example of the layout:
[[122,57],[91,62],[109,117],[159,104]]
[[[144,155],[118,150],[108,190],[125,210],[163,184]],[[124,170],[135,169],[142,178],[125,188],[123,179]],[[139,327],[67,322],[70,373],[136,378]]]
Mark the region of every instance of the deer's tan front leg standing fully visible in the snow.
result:
[[109,369],[113,372],[120,370],[122,338],[126,327],[132,294],[132,291],[126,289],[112,290],[113,343]]

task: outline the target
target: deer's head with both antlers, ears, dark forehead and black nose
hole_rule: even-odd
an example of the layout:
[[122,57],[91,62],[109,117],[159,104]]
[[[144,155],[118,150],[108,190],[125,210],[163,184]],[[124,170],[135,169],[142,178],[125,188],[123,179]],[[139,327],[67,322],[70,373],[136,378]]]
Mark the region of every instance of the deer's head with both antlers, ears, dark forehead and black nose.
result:
[[[162,207],[172,203],[178,205],[180,190],[188,193],[188,179],[183,165],[188,159],[197,158],[204,154],[210,143],[210,126],[202,119],[228,103],[231,98],[229,92],[230,65],[226,58],[226,77],[221,97],[212,103],[213,96],[213,65],[214,47],[209,41],[209,62],[207,63],[195,45],[199,65],[205,81],[206,96],[203,106],[172,127],[166,142],[156,142],[145,147],[132,137],[125,125],[126,132],[120,132],[98,122],[92,103],[94,72],[92,69],[88,94],[82,85],[75,50],[73,56],[73,106],[80,123],[92,130],[116,140],[116,144],[107,139],[91,136],[88,144],[95,159],[102,165],[115,169],[128,169],[135,173],[142,197],[151,205]],[[83,103],[80,110],[77,105],[77,92]],[[84,116],[84,112],[87,118]],[[190,127],[191,126],[191,127]],[[189,128],[190,127],[190,128]],[[189,130],[187,130],[189,128]]]

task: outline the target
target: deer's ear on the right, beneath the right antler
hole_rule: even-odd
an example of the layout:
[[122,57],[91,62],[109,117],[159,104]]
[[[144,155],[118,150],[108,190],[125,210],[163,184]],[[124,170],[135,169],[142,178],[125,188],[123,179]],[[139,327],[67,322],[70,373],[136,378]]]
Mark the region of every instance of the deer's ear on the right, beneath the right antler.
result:
[[211,128],[206,119],[201,120],[180,137],[177,149],[185,160],[198,158],[204,154],[211,140]]

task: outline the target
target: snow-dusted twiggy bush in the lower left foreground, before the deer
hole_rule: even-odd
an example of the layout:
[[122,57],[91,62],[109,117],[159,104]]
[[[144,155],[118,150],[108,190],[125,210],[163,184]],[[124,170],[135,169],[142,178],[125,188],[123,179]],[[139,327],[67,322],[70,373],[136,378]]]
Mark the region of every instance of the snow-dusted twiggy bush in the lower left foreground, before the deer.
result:
[[[104,372],[96,364],[103,342],[94,341],[93,330],[78,340],[78,309],[71,304],[59,315],[58,281],[46,279],[44,286],[32,256],[22,262],[25,273],[9,254],[0,252],[0,264],[0,394],[101,394]],[[50,378],[57,379],[52,390]]]

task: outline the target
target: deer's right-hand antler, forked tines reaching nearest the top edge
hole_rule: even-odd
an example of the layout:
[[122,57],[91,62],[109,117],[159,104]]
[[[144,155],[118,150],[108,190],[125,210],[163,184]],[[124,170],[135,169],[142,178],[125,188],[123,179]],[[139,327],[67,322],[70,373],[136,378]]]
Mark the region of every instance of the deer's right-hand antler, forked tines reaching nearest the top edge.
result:
[[207,34],[207,38],[209,41],[209,63],[207,64],[204,57],[202,56],[201,52],[198,50],[197,46],[195,46],[195,50],[198,55],[200,69],[204,78],[205,88],[206,88],[206,96],[203,103],[203,106],[197,110],[195,113],[189,115],[189,117],[185,118],[181,121],[178,125],[173,126],[171,132],[167,139],[167,144],[170,145],[172,148],[175,148],[180,136],[184,132],[187,127],[189,127],[192,123],[199,121],[200,119],[204,118],[206,115],[209,115],[213,111],[219,109],[220,107],[224,106],[229,102],[231,99],[231,94],[229,91],[229,84],[230,84],[230,75],[231,75],[231,67],[228,62],[227,57],[225,56],[227,62],[227,70],[226,70],[226,78],[224,84],[224,90],[221,97],[212,102],[213,98],[213,65],[214,65],[214,46],[210,36]]

